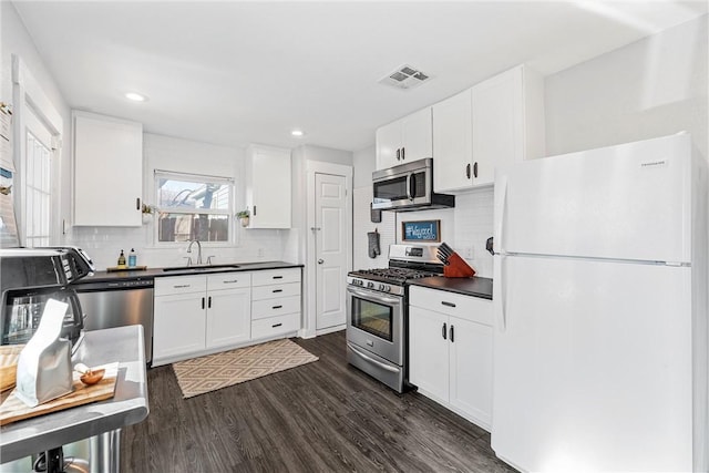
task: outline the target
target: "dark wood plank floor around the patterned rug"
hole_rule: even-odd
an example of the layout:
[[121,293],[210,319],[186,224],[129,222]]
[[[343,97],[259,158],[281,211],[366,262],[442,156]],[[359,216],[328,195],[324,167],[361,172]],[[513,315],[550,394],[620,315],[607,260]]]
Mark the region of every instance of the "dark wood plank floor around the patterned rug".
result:
[[183,399],[148,371],[151,413],[122,434],[124,472],[513,471],[490,434],[347,364],[345,332],[298,345],[319,361]]

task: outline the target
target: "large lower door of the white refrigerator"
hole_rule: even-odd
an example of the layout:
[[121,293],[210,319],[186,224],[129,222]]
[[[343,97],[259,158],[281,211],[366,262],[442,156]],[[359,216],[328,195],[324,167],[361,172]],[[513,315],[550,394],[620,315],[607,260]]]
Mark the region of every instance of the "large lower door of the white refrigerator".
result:
[[497,456],[523,471],[691,471],[691,268],[495,259]]

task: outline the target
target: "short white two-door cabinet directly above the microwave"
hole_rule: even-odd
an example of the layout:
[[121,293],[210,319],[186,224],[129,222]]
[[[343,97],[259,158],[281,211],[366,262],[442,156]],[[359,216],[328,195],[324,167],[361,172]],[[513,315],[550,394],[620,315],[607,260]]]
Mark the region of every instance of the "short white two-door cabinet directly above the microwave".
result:
[[433,156],[431,107],[377,128],[377,169]]

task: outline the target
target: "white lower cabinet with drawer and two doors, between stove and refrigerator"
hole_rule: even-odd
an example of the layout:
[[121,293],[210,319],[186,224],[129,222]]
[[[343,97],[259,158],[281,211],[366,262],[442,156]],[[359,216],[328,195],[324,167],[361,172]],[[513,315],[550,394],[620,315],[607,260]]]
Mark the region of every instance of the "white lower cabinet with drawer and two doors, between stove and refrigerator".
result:
[[475,424],[492,424],[492,301],[413,286],[409,381]]

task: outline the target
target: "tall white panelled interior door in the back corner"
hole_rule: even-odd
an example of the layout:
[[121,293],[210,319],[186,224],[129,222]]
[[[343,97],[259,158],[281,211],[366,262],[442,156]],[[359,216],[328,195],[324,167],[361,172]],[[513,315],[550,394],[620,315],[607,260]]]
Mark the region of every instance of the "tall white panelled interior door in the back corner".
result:
[[317,173],[316,329],[345,323],[347,281],[347,179]]

